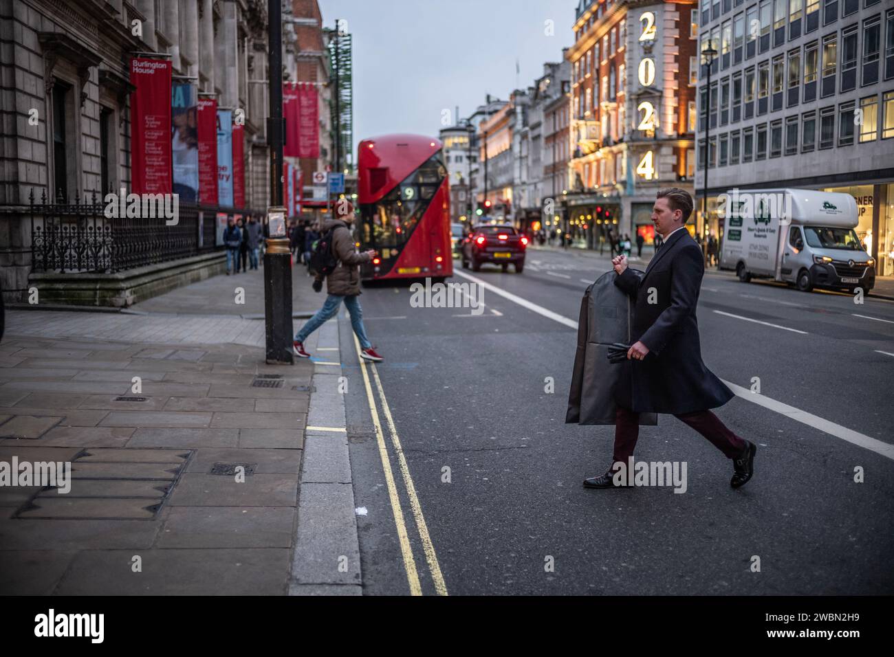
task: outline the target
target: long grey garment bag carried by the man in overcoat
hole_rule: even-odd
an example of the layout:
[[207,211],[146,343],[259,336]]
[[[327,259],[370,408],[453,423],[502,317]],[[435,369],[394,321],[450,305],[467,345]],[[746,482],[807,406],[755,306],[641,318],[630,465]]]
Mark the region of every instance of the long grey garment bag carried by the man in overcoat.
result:
[[[637,270],[635,270],[637,271]],[[622,367],[633,363],[609,361],[609,350],[630,344],[633,299],[614,284],[613,271],[606,272],[586,289],[580,302],[578,350],[574,357],[568,413],[565,424],[613,425],[615,386]],[[629,377],[627,377],[629,381]],[[641,413],[640,425],[657,425],[655,413]]]

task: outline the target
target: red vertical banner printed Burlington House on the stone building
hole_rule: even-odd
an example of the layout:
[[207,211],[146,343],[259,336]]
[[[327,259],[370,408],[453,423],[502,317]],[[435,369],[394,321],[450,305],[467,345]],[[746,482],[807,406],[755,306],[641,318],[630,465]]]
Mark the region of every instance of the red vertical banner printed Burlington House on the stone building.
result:
[[[171,193],[171,62],[131,61],[131,191]],[[108,191],[108,190],[104,190]]]

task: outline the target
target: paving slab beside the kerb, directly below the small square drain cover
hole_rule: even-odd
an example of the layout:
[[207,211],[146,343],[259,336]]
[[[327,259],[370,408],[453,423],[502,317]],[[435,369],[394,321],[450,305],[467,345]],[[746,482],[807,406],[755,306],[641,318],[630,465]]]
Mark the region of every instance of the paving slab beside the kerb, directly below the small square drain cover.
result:
[[173,489],[172,507],[295,506],[298,478],[293,475],[252,475],[243,483],[235,476],[186,473]]

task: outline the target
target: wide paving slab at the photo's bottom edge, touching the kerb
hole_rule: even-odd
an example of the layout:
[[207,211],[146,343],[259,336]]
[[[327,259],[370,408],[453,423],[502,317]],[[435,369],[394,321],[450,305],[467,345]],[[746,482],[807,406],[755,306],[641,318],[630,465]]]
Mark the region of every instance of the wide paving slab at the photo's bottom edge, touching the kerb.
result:
[[69,595],[283,595],[288,548],[168,549],[80,552],[56,587]]

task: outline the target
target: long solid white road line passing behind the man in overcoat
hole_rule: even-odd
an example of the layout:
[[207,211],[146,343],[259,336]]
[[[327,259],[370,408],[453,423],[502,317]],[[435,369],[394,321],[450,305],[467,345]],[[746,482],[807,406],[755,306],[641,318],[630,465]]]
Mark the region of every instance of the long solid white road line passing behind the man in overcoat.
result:
[[[568,317],[563,317],[558,313],[553,313],[552,310],[544,308],[542,306],[537,306],[536,303],[531,303],[527,299],[521,299],[510,292],[505,290],[501,290],[495,285],[491,285],[489,282],[482,281],[475,276],[471,276],[469,274],[463,274],[461,272],[457,272],[460,276],[464,276],[468,278],[470,281],[477,282],[479,285],[482,285],[487,290],[492,291],[494,294],[499,294],[504,299],[509,299],[510,301],[519,304],[521,307],[525,307],[532,312],[535,312],[537,315],[541,315],[547,317],[548,319],[552,319],[554,322],[558,322],[563,326],[569,326],[570,328],[577,329],[578,323],[573,319],[569,319]],[[718,311],[714,311],[718,312]],[[726,314],[726,313],[724,313]],[[746,319],[746,318],[743,318]],[[750,320],[756,321],[756,320]],[[759,324],[763,324],[760,322]],[[771,324],[772,325],[772,324]],[[786,328],[785,326],[779,326],[778,328]],[[788,329],[787,331],[795,331],[795,329]],[[797,331],[796,333],[804,333],[803,331]],[[882,352],[887,353],[887,352]],[[894,356],[894,354],[888,354],[890,356]],[[747,388],[742,388],[741,386],[736,385],[735,383],[731,383],[730,381],[724,381],[730,386],[730,389],[735,392],[738,397],[743,400],[751,401],[752,403],[757,404],[758,406],[763,406],[765,409],[770,409],[775,411],[776,413],[780,413],[780,415],[784,415],[786,417],[790,417],[801,424],[813,426],[814,429],[819,429],[825,434],[830,434],[835,436],[836,438],[840,438],[843,441],[850,442],[851,444],[855,444],[858,447],[863,447],[866,450],[874,451],[877,454],[881,454],[888,459],[894,460],[894,445],[891,445],[887,442],[882,442],[877,440],[871,436],[860,434],[852,429],[848,429],[847,426],[838,425],[830,420],[823,419],[822,417],[818,417],[813,415],[812,413],[808,413],[805,410],[796,409],[794,406],[789,406],[788,404],[784,404],[781,401],[773,400],[770,397],[765,397],[760,394],[756,394],[755,392],[751,392]]]

